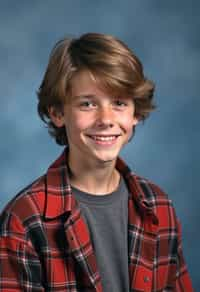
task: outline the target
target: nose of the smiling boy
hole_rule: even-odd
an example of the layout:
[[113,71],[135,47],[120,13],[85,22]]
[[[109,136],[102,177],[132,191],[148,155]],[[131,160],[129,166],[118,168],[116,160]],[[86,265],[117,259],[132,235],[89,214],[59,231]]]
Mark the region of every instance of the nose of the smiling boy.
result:
[[96,124],[98,127],[113,127],[114,115],[108,106],[98,109]]

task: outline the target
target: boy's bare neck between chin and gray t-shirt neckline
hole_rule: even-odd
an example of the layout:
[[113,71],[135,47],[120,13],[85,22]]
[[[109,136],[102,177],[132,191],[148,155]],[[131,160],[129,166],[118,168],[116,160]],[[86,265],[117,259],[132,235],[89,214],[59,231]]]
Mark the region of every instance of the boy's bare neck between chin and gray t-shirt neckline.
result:
[[70,168],[70,184],[81,191],[94,194],[109,194],[119,185],[120,174],[113,162],[97,162],[96,165],[80,163],[73,157],[68,160]]

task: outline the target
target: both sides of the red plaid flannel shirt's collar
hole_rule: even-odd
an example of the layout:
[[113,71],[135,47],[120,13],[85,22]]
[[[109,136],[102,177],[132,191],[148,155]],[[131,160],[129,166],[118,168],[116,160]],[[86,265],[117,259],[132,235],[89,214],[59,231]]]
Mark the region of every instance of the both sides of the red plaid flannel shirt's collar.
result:
[[[53,219],[66,212],[70,212],[76,205],[69,180],[68,167],[68,147],[65,148],[60,157],[54,161],[47,170],[46,174],[46,204],[44,216]],[[124,177],[131,198],[138,205],[141,212],[145,215],[156,217],[155,196],[148,188],[146,180],[133,173],[126,163],[117,158],[116,168]]]

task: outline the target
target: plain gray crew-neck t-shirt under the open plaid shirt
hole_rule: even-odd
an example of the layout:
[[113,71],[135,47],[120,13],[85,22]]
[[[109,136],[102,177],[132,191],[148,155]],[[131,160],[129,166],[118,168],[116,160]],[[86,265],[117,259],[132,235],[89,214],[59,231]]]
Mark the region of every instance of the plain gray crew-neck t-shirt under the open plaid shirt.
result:
[[128,189],[123,177],[116,191],[93,195],[72,187],[88,225],[104,292],[128,292]]

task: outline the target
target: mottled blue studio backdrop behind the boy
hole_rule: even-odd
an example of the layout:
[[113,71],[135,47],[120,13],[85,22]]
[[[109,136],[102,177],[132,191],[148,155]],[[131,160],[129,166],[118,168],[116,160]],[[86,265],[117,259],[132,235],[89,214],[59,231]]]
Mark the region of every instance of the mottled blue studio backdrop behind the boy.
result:
[[156,112],[121,156],[173,200],[196,291],[200,182],[199,1],[1,1],[0,210],[61,153],[37,116],[36,91],[50,51],[64,36],[113,34],[156,83]]

